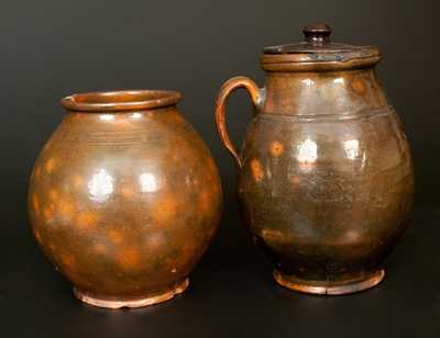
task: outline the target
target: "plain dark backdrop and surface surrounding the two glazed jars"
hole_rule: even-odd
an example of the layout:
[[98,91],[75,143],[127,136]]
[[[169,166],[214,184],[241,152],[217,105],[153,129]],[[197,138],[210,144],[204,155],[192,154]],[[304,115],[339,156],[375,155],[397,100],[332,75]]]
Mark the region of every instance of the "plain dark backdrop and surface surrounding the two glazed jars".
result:
[[[161,0],[1,1],[1,337],[439,337],[439,1]],[[221,147],[213,102],[246,75],[263,86],[263,46],[301,40],[326,21],[333,40],[375,44],[378,75],[406,125],[417,173],[413,225],[380,286],[311,296],[275,285],[235,203],[234,164]],[[26,216],[28,178],[63,117],[58,100],[107,89],[177,89],[180,109],[211,148],[226,203],[216,240],[174,301],[140,309],[81,305],[44,258]],[[229,101],[238,144],[248,95]]]

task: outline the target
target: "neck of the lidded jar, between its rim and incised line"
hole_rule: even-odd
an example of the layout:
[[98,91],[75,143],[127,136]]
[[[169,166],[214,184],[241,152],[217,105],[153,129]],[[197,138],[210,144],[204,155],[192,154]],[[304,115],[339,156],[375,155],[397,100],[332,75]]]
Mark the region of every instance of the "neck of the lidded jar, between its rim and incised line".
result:
[[341,71],[266,74],[262,113],[318,115],[378,109],[387,101],[374,67]]

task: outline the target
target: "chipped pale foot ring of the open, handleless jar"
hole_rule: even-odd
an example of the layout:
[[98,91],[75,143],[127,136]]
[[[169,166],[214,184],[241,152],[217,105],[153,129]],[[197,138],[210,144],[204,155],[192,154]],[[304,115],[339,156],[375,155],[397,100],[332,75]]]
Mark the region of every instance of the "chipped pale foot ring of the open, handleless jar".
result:
[[87,291],[78,290],[74,286],[74,294],[75,296],[80,300],[81,302],[98,306],[98,307],[106,307],[106,308],[121,308],[121,307],[142,307],[158,304],[162,302],[169,301],[174,296],[183,293],[189,285],[189,279],[185,279],[182,282],[175,284],[173,288],[168,288],[165,292],[160,292],[153,295],[148,295],[146,297],[139,297],[139,298],[109,298],[102,297],[98,294],[92,294]]

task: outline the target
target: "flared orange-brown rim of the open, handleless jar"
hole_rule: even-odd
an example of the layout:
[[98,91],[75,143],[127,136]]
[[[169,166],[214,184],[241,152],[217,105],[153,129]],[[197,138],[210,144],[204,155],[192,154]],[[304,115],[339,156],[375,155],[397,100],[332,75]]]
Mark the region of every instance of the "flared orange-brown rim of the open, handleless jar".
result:
[[182,94],[174,90],[116,90],[76,93],[61,103],[68,111],[103,112],[151,110],[177,104]]

